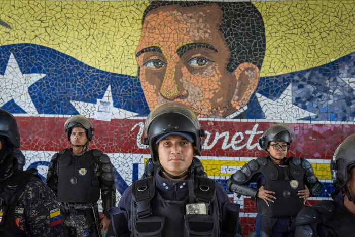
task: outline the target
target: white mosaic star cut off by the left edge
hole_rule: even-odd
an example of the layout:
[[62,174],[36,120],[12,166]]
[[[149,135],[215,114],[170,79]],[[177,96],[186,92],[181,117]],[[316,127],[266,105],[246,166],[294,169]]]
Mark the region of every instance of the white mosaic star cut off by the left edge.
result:
[[45,76],[46,74],[41,73],[22,74],[11,53],[5,73],[0,75],[0,107],[13,99],[28,115],[37,116],[38,112],[29,96],[28,87]]

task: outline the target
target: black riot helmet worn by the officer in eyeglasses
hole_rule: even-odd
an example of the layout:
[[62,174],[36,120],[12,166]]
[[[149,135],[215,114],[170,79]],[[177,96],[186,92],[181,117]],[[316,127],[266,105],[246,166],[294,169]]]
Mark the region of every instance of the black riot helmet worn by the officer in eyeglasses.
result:
[[259,139],[259,145],[262,149],[266,149],[269,142],[292,143],[295,140],[295,133],[286,124],[278,123],[269,127],[264,135]]

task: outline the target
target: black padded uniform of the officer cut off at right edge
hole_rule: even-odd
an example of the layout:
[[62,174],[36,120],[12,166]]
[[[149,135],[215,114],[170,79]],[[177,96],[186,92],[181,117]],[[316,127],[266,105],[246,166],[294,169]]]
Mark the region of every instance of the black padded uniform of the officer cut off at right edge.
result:
[[355,215],[344,206],[344,196],[339,193],[334,201],[319,201],[302,209],[296,225],[296,236],[350,236],[355,230]]

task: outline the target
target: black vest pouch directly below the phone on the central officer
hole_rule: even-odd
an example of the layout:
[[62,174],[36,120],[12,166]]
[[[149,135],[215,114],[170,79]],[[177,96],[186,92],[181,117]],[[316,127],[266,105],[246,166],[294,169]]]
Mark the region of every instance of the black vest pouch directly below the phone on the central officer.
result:
[[190,214],[184,216],[184,236],[212,237],[215,228],[212,216],[203,214]]

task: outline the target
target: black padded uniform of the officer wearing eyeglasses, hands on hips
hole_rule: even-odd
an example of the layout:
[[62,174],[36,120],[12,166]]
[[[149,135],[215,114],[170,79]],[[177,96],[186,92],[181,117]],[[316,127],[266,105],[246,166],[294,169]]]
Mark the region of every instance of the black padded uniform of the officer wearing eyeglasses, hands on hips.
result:
[[293,218],[303,208],[303,199],[299,198],[298,191],[305,189],[307,185],[310,196],[313,196],[321,191],[322,184],[306,159],[284,158],[280,165],[272,163],[270,159],[264,156],[251,160],[232,175],[233,182],[229,180],[228,183],[231,191],[253,198],[257,197],[258,189],[251,188],[248,184],[254,181],[263,180],[262,183],[258,183],[258,188],[264,185],[266,190],[275,192],[272,194],[276,197],[275,202],[269,202],[269,206],[264,200],[257,198],[261,230],[272,236],[272,227],[278,227],[276,222],[280,218],[290,219],[290,228],[295,228]]

